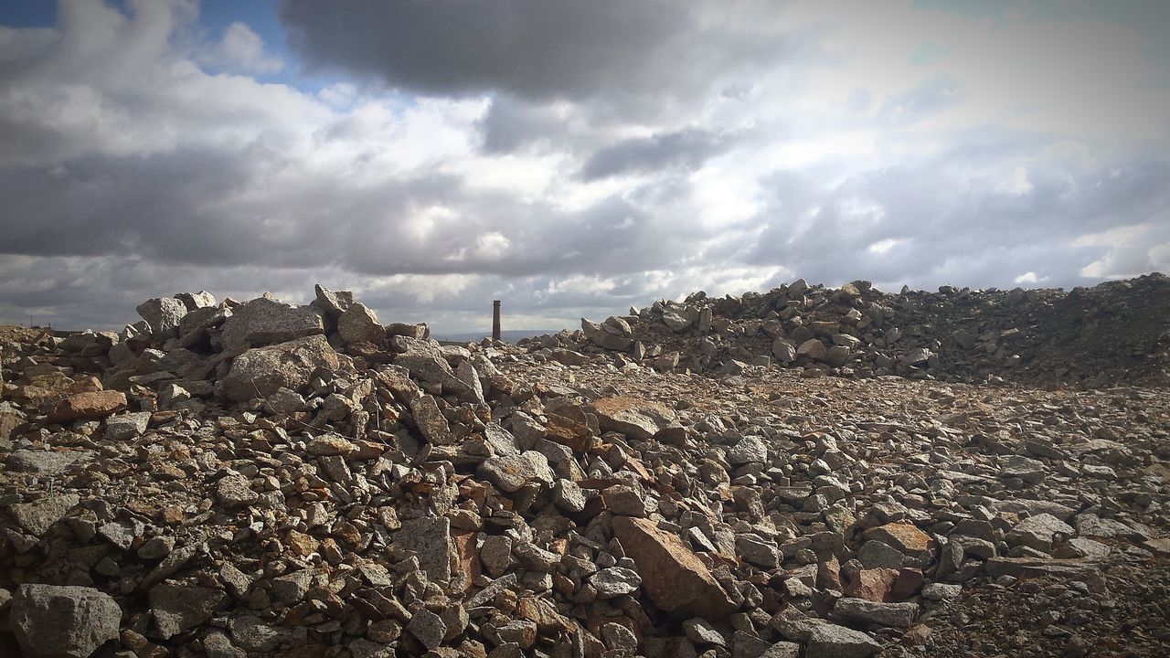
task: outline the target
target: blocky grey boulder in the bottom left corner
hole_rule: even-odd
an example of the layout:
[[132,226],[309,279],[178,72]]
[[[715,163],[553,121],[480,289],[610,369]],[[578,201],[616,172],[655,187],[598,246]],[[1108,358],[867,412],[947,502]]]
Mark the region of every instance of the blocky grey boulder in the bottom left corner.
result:
[[30,658],[88,658],[118,638],[122,609],[94,588],[23,584],[8,623]]

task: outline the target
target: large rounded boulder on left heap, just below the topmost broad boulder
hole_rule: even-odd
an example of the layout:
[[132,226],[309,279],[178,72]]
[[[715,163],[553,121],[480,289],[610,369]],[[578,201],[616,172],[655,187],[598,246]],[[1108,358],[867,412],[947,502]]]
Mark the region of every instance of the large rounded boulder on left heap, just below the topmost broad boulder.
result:
[[227,376],[219,381],[216,393],[245,402],[281,389],[295,391],[308,385],[318,368],[336,370],[338,365],[337,352],[321,335],[250,349],[235,357]]

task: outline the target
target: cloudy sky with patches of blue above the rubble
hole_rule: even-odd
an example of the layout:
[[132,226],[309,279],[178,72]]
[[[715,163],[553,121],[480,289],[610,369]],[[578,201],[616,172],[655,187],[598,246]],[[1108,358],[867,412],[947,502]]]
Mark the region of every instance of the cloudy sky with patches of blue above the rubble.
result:
[[1170,272],[1164,0],[5,0],[0,322]]

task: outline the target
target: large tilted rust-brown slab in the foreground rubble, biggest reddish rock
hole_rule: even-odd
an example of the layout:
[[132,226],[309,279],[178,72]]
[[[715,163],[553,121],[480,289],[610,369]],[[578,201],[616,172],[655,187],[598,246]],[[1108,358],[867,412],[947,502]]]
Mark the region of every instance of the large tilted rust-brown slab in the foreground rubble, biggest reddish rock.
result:
[[638,566],[642,590],[663,611],[680,619],[708,621],[722,619],[735,611],[735,602],[698,557],[653,521],[615,516],[613,534]]

